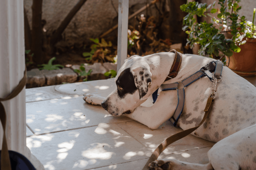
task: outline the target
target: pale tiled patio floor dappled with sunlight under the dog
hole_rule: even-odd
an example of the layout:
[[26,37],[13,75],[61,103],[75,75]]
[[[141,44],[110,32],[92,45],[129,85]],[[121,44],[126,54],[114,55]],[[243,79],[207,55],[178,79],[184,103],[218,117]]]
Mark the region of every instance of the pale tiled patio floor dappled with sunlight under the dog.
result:
[[[256,84],[255,77],[247,79]],[[27,146],[46,170],[141,170],[165,138],[182,131],[169,121],[151,130],[82,99],[84,93],[107,97],[114,88],[107,79],[26,89]],[[213,145],[189,135],[160,158],[206,164]]]

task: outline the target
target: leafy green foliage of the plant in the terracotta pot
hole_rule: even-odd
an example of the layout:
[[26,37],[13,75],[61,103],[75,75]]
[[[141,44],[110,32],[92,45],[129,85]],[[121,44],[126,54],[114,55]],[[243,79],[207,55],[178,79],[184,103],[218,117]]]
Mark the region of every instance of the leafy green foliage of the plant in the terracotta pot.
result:
[[[188,15],[183,19],[184,26],[182,28],[188,34],[187,45],[189,44],[190,48],[192,48],[194,43],[198,43],[200,45],[199,55],[220,59],[224,63],[224,56],[227,56],[227,59],[229,59],[233,54],[239,54],[241,51],[240,47],[245,43],[244,39],[241,38],[246,35],[249,36],[250,29],[252,32],[250,36],[252,38],[255,36],[254,25],[246,22],[244,16],[239,17],[238,11],[241,9],[241,6],[238,5],[239,2],[240,0],[228,0],[228,7],[225,7],[226,1],[219,0],[220,9],[213,8],[215,2],[210,5],[189,2],[180,6],[182,11],[188,12]],[[232,11],[228,12],[227,9],[232,9]],[[211,14],[216,12],[218,13],[217,18],[212,17]],[[208,15],[211,17],[212,23],[206,23],[205,21],[197,23],[193,17],[194,15],[199,17],[206,17]],[[213,26],[213,23],[220,25],[219,28]],[[228,61],[232,63],[232,59],[231,57]],[[242,57],[242,60],[245,60],[245,57]]]

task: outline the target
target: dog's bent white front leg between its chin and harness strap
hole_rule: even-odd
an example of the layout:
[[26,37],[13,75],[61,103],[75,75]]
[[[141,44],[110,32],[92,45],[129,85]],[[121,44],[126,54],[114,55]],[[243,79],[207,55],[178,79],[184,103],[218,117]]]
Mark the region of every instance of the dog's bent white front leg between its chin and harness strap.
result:
[[150,129],[157,129],[173,115],[177,103],[176,90],[161,91],[153,106],[145,107],[140,105],[132,113],[124,115],[148,126]]

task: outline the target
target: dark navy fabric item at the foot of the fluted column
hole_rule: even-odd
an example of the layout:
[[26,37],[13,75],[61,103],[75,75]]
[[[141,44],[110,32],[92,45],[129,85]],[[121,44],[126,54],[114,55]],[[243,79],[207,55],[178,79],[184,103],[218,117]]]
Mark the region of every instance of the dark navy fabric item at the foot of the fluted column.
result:
[[[36,170],[31,162],[22,154],[9,150],[9,156],[11,161],[12,170]],[[1,159],[1,150],[0,150],[0,159]],[[1,164],[0,164],[1,170]],[[4,170],[4,169],[2,169]]]

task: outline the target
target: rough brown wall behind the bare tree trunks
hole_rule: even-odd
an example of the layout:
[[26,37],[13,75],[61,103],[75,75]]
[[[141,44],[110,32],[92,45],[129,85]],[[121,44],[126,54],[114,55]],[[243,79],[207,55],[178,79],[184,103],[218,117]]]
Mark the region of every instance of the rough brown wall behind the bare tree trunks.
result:
[[[42,19],[46,20],[45,30],[48,35],[58,28],[62,20],[78,1],[43,0]],[[32,2],[32,0],[24,0],[30,29],[32,24]],[[145,6],[146,2],[147,0],[129,0],[129,15]],[[89,38],[99,37],[99,35],[117,24],[118,15],[114,8],[118,12],[118,0],[87,0],[65,29],[63,41],[59,42],[58,45],[82,44],[82,42],[89,41]],[[155,14],[153,7],[152,10],[153,14]],[[117,30],[115,33],[117,34]]]

